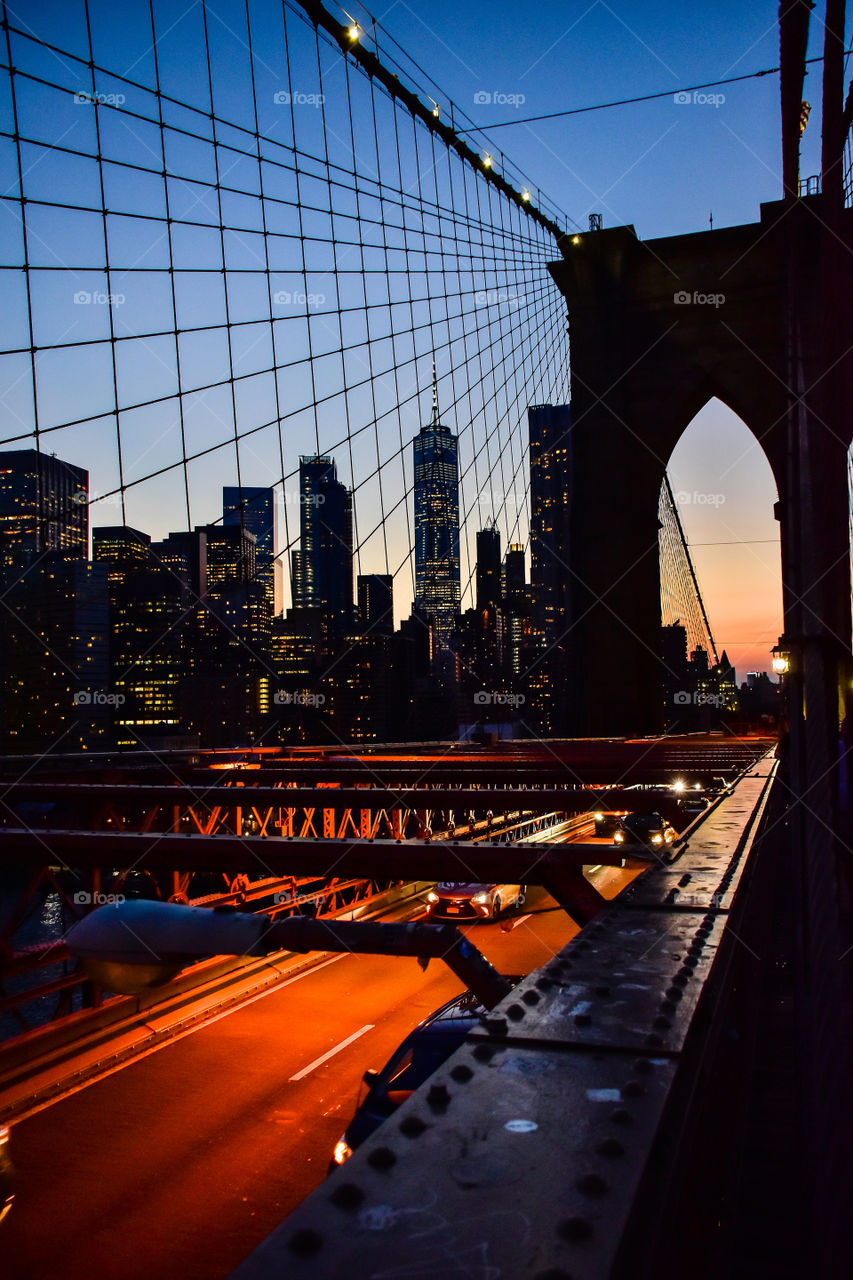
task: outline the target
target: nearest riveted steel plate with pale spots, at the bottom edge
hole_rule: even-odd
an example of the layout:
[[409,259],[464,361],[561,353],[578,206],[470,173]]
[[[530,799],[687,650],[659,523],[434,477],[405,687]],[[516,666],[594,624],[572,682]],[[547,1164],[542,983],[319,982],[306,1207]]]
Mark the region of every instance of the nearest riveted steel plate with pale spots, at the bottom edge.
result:
[[447,1105],[410,1098],[232,1280],[601,1280],[674,1074],[669,1060],[467,1044],[433,1078]]

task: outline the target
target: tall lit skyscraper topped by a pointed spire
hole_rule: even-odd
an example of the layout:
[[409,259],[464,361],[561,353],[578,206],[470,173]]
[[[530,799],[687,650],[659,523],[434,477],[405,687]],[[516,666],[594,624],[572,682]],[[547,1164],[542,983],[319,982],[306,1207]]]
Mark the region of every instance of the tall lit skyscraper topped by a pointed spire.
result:
[[457,438],[433,420],[412,442],[415,458],[415,605],[435,621],[442,648],[450,645],[460,604]]

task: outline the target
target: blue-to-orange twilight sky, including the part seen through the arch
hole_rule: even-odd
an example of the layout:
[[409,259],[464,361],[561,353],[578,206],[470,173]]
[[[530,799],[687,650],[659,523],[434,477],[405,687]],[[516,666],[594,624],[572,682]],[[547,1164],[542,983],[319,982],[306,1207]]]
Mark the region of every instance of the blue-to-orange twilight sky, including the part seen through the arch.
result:
[[[328,5],[343,20],[347,10]],[[247,485],[279,483],[283,552],[298,531],[298,456],[332,452],[356,486],[357,567],[396,575],[400,617],[412,594],[410,442],[429,415],[433,351],[442,419],[460,434],[465,588],[469,541],[487,517],[498,517],[505,545],[526,536],[525,410],[567,397],[565,315],[544,273],[555,255],[529,220],[514,210],[503,227],[482,177],[448,168],[382,99],[371,105],[364,77],[339,51],[318,52],[297,8],[284,5],[283,24],[273,0],[207,0],[204,14],[199,0],[155,0],[156,60],[147,0],[90,0],[88,26],[82,0],[10,8],[23,141],[18,156],[4,72],[0,448],[28,443],[38,421],[42,447],[88,467],[92,492],[106,495],[93,524],[122,518],[109,495],[123,484],[124,518],[155,536],[218,518],[240,463]],[[364,9],[347,8],[373,38]],[[377,13],[377,36],[423,100],[444,118],[455,101],[457,128],[665,92],[492,128],[488,141],[467,134],[500,170],[501,152],[520,165],[525,182],[511,180],[537,198],[542,188],[569,225],[585,229],[601,212],[606,227],[652,238],[703,229],[711,215],[715,227],[754,221],[779,198],[776,76],[675,99],[775,67],[776,8],[397,0]],[[93,79],[90,56],[105,68]],[[818,168],[818,73],[806,88],[804,175]],[[329,187],[347,169],[357,198],[343,180]],[[466,220],[442,223],[451,207]],[[480,236],[498,214],[501,236]],[[768,666],[781,630],[770,468],[715,402],[685,422],[670,470],[717,646],[743,678]]]

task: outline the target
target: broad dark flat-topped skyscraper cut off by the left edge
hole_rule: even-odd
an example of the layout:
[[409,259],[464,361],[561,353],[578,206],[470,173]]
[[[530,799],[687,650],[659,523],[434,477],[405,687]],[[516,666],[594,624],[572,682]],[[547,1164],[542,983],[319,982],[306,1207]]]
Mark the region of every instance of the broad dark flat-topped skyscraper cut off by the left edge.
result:
[[45,552],[88,553],[88,471],[37,449],[0,453],[0,558],[31,564]]

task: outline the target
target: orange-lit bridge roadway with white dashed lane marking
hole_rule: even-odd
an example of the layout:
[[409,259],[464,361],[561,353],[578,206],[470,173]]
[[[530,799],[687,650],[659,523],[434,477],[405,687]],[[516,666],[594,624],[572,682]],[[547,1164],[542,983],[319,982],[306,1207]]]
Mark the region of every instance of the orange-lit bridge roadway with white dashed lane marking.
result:
[[[635,874],[592,878],[612,897]],[[511,929],[465,927],[503,973],[538,968],[578,932],[542,890],[525,913]],[[324,1178],[364,1070],[459,989],[437,963],[321,960],[14,1124],[4,1276],[228,1276]]]

